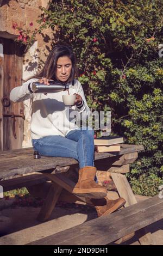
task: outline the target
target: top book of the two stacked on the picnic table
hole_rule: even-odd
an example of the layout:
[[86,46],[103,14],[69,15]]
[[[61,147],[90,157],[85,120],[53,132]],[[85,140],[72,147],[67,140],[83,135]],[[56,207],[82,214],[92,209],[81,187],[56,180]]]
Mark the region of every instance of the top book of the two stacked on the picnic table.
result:
[[103,136],[94,139],[94,144],[95,145],[102,145],[102,146],[110,146],[114,144],[120,144],[123,143],[123,137],[120,136]]

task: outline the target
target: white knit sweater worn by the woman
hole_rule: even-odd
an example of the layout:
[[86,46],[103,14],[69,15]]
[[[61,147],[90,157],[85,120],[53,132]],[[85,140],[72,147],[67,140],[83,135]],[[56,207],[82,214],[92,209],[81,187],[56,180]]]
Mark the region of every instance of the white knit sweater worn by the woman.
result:
[[86,118],[91,115],[90,108],[87,106],[82,85],[78,80],[74,80],[74,85],[69,83],[70,95],[77,93],[82,96],[84,105],[82,108],[77,106],[65,106],[62,95],[68,95],[67,91],[58,93],[30,93],[28,84],[38,81],[32,78],[23,83],[22,86],[15,87],[10,92],[10,100],[20,102],[28,99],[33,100],[32,118],[30,123],[31,137],[39,139],[49,135],[60,135],[65,137],[71,130],[79,128],[75,123],[77,118]]

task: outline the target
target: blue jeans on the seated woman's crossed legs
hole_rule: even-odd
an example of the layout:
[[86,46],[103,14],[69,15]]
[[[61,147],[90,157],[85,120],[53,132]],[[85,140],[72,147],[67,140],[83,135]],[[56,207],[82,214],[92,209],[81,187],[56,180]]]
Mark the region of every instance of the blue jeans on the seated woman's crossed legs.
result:
[[79,167],[94,165],[94,130],[79,128],[60,135],[32,139],[34,150],[42,156],[72,157],[79,162]]

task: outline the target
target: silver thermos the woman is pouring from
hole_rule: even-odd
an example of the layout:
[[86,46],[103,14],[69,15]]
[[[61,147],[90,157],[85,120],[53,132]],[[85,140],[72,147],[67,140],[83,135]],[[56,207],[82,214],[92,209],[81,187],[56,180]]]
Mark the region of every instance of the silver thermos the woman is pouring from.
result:
[[62,84],[60,82],[49,81],[49,86],[44,83],[34,82],[32,83],[31,89],[34,93],[58,93],[62,90],[68,90],[68,84]]

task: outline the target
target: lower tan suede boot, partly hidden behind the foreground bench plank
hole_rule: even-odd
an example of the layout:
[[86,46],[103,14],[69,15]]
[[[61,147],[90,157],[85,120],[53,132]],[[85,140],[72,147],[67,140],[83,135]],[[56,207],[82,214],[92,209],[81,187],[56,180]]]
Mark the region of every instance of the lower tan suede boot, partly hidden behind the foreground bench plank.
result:
[[96,208],[98,217],[111,214],[126,204],[126,200],[124,200],[122,197],[116,200],[109,200],[107,197],[103,199],[91,199],[91,202]]

